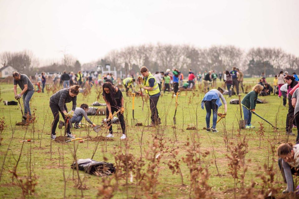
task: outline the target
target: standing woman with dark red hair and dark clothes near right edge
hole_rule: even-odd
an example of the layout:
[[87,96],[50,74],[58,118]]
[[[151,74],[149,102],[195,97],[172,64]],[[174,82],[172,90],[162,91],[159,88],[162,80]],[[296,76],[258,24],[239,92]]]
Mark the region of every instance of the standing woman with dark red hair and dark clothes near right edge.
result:
[[[290,75],[285,76],[284,80],[288,84],[287,85],[287,93],[289,93],[290,90],[292,90],[292,88],[294,88],[298,84],[298,81],[295,81],[295,77],[290,76]],[[292,128],[293,128],[293,125],[296,125],[296,124],[295,124],[295,120],[294,120],[295,108],[292,106],[292,95],[287,96],[287,101],[289,104],[289,110],[287,113],[286,134],[294,136],[295,134],[292,132]]]

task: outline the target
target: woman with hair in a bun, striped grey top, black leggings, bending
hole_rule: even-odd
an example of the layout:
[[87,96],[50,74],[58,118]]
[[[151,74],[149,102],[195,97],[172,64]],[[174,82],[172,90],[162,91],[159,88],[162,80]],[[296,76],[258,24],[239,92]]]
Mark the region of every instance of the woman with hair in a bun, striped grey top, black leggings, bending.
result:
[[[50,97],[50,109],[54,116],[54,121],[52,123],[52,129],[51,129],[51,139],[55,140],[56,138],[56,127],[57,123],[59,121],[59,112],[61,113],[64,122],[66,122],[66,119],[71,119],[74,116],[74,111],[76,109],[77,105],[77,95],[79,94],[79,88],[80,86],[74,85],[69,88],[64,88],[59,91],[57,91],[55,94],[53,94]],[[66,107],[66,103],[73,102],[72,111],[68,113],[68,109]],[[58,128],[61,129],[63,126],[63,122],[59,121]],[[67,136],[68,138],[74,138],[74,136],[71,134],[70,131],[70,124],[67,126]]]

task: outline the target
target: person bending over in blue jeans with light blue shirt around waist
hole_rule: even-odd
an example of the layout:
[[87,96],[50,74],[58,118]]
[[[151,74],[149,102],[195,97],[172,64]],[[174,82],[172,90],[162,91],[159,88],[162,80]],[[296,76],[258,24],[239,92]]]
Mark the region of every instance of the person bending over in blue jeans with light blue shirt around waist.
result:
[[218,132],[216,130],[216,123],[217,123],[217,111],[218,108],[222,105],[220,98],[224,104],[224,114],[218,114],[220,117],[225,117],[226,111],[227,111],[227,104],[226,100],[221,94],[219,90],[212,89],[209,92],[206,93],[204,98],[202,99],[202,109],[203,105],[206,107],[206,131],[211,131],[210,128],[210,118],[211,118],[211,109],[213,110],[213,126],[212,126],[212,132]]

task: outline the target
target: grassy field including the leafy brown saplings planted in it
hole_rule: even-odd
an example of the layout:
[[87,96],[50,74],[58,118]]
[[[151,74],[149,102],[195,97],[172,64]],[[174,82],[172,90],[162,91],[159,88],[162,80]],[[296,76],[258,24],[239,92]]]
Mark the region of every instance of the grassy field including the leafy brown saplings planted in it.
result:
[[[272,82],[273,80],[268,81]],[[256,79],[247,79],[245,82],[253,85]],[[10,90],[12,85],[1,84],[0,87],[0,98],[2,100],[15,100],[13,90]],[[121,141],[119,139],[121,136],[121,130],[118,130],[119,125],[113,125],[114,140],[100,141],[93,157],[93,160],[97,161],[117,162],[115,165],[119,166],[116,168],[118,169],[118,174],[101,178],[79,171],[83,185],[81,192],[80,187],[78,188],[77,172],[73,172],[73,169],[70,168],[70,165],[74,162],[74,147],[78,147],[76,152],[77,159],[91,158],[97,142],[87,142],[87,140],[83,143],[75,141],[70,144],[51,142],[50,129],[53,115],[49,109],[50,95],[51,93],[35,93],[31,100],[31,110],[35,110],[36,115],[35,133],[33,133],[32,124],[28,127],[15,125],[17,122],[21,122],[19,106],[5,106],[2,102],[0,104],[1,117],[4,117],[5,125],[7,125],[7,128],[2,132],[3,139],[0,146],[0,165],[3,168],[0,181],[0,198],[22,197],[22,190],[26,192],[26,182],[27,184],[30,182],[28,180],[30,176],[31,179],[35,179],[33,182],[36,182],[36,186],[35,191],[31,195],[26,196],[26,198],[63,198],[64,183],[66,183],[66,198],[79,198],[82,193],[84,198],[109,198],[108,193],[111,190],[113,190],[113,198],[196,198],[196,196],[201,196],[201,198],[233,198],[234,193],[239,198],[240,192],[241,194],[244,193],[244,189],[251,187],[252,182],[255,182],[254,189],[252,189],[254,193],[250,194],[254,198],[262,190],[268,191],[268,187],[265,186],[265,183],[259,177],[259,175],[264,175],[266,178],[269,178],[269,175],[263,168],[264,164],[267,167],[271,167],[271,164],[273,164],[273,183],[270,184],[278,189],[278,197],[281,197],[280,193],[286,187],[282,182],[279,169],[277,169],[277,162],[273,163],[273,157],[271,156],[270,143],[277,147],[279,143],[287,140],[284,130],[287,108],[282,106],[282,99],[278,99],[277,96],[260,97],[267,103],[257,104],[256,113],[267,118],[272,123],[275,123],[276,119],[277,126],[281,130],[273,132],[273,128],[268,123],[264,123],[260,118],[253,115],[252,124],[256,128],[250,130],[242,129],[240,135],[238,132],[238,122],[240,120],[239,105],[233,104],[228,104],[226,118],[217,124],[218,133],[203,130],[206,127],[206,111],[201,109],[201,99],[204,93],[199,91],[199,89],[195,92],[182,91],[180,93],[175,128],[173,128],[175,99],[171,93],[166,93],[159,99],[158,110],[164,125],[160,125],[157,129],[131,127],[132,98],[125,96],[125,119],[128,123],[128,139]],[[231,98],[225,97],[229,102]],[[232,98],[237,98],[237,96]],[[96,87],[93,87],[90,95],[83,96],[81,93],[78,95],[77,104],[92,104],[95,100],[97,100]],[[103,103],[102,97],[97,101]],[[68,108],[71,105],[71,103],[67,104]],[[138,122],[147,124],[149,102],[145,102],[143,112],[141,106],[141,97],[136,97],[135,118]],[[224,106],[221,106],[219,112],[223,112],[223,108]],[[95,123],[101,121],[102,118],[104,117],[91,117]],[[84,119],[83,122],[85,122]],[[263,131],[264,136],[261,139],[255,132],[259,130],[259,122],[263,122],[265,128]],[[197,130],[186,130],[188,124],[193,124],[197,127]],[[296,134],[296,129],[293,130]],[[63,129],[59,130],[57,128],[56,132],[57,135],[63,134]],[[72,133],[77,137],[85,137],[89,133],[91,137],[96,136],[96,133],[90,129],[88,130],[88,128],[73,129]],[[101,133],[105,136],[107,130]],[[31,140],[33,140],[34,136],[35,141],[19,142],[24,139],[24,135],[25,139]],[[154,139],[154,137],[157,139]],[[231,161],[227,155],[231,156],[233,152],[231,147],[236,146],[238,142],[242,142],[244,137],[246,137],[245,141],[248,142],[247,153],[244,158],[244,165],[241,165],[239,170],[237,170],[238,179],[235,181],[229,173],[230,166],[228,164]],[[295,139],[295,136],[288,138],[293,143]],[[142,146],[140,149],[141,141]],[[205,151],[208,151],[209,154],[206,155]],[[139,165],[142,163],[139,159],[141,152],[142,161],[145,164],[143,166]],[[173,157],[173,154],[176,154],[176,158]],[[194,159],[193,162],[190,159],[188,160],[191,156]],[[5,161],[4,157],[6,157]],[[12,171],[19,157],[20,160],[16,169],[18,179],[14,178],[12,182]],[[237,156],[237,160],[238,157],[240,156]],[[169,169],[168,164],[171,161],[175,161],[175,159],[180,160],[178,167],[183,176],[184,186],[181,183],[181,175],[173,174],[172,170]],[[276,160],[277,158],[274,157],[274,159]],[[2,165],[3,162],[4,166]],[[29,167],[30,165],[31,167]],[[240,176],[244,169],[243,166],[247,167],[247,172],[244,177],[244,188],[242,189]],[[192,180],[195,184],[191,184],[190,180],[191,167],[199,169],[199,173],[196,174],[197,178]],[[138,168],[140,168],[140,173],[144,176],[144,179],[140,180],[140,185],[136,186],[136,172]],[[131,173],[133,175],[132,182],[130,181]],[[64,180],[64,176],[66,180]],[[194,178],[194,175],[192,176]],[[116,178],[119,179],[116,181]],[[235,182],[237,183],[236,190],[234,189]],[[199,193],[198,190],[201,192]],[[191,195],[189,195],[190,191]]]

